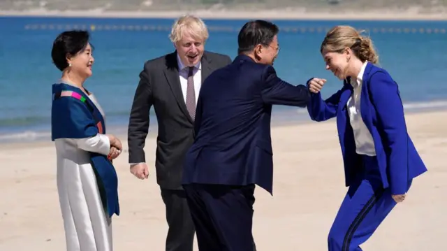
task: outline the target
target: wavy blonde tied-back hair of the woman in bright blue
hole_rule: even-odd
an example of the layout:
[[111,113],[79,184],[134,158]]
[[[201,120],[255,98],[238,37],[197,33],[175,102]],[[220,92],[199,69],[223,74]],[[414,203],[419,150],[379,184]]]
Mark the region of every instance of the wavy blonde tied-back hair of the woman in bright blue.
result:
[[345,48],[351,48],[354,55],[362,62],[379,63],[379,55],[374,50],[371,38],[362,36],[362,32],[346,25],[333,27],[321,43],[320,51],[342,52]]

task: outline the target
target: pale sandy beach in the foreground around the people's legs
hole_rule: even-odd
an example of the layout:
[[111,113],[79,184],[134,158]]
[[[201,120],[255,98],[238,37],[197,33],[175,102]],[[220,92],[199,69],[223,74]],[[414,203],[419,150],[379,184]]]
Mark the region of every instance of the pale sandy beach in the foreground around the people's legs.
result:
[[[445,245],[447,111],[411,114],[406,121],[429,171],[413,182],[406,201],[364,250]],[[277,126],[272,141],[274,194],[256,188],[258,250],[327,250],[326,236],[346,192],[335,121]],[[149,166],[155,146],[151,135],[145,148]],[[65,250],[54,154],[51,142],[0,145],[0,250]],[[125,151],[115,162],[122,210],[113,219],[115,250],[164,250],[167,225],[154,171],[138,180],[129,173],[127,158]]]

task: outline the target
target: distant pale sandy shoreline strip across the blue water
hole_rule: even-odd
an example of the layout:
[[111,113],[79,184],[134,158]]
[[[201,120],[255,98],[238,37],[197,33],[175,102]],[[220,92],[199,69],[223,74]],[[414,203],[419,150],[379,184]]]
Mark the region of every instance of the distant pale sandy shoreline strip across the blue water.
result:
[[167,18],[175,19],[186,13],[198,15],[203,19],[267,19],[267,20],[447,20],[447,13],[424,14],[410,10],[349,10],[349,13],[307,12],[305,10],[196,10],[196,11],[103,11],[103,10],[0,10],[0,17],[101,17],[101,18]]

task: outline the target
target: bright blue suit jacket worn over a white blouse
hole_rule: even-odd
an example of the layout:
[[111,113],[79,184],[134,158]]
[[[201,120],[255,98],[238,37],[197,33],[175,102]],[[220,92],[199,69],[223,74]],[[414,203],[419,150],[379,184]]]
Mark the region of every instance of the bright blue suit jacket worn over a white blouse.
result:
[[[321,94],[311,94],[307,105],[312,120],[324,121],[337,116],[346,186],[351,185],[361,165],[346,109],[352,92],[353,87],[348,79],[342,89],[324,101]],[[374,140],[383,188],[390,187],[392,194],[406,193],[409,181],[427,171],[427,168],[406,131],[397,83],[386,70],[371,63],[367,63],[362,78],[360,113]]]

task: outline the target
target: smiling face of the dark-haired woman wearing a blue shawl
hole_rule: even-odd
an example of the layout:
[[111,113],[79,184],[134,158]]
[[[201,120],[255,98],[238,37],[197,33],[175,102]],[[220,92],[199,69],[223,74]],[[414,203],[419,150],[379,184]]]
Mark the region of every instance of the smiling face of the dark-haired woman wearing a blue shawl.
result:
[[88,43],[84,50],[68,59],[68,64],[71,64],[70,71],[82,78],[89,78],[93,74],[91,66],[94,60],[91,45]]

